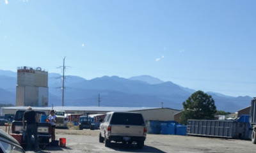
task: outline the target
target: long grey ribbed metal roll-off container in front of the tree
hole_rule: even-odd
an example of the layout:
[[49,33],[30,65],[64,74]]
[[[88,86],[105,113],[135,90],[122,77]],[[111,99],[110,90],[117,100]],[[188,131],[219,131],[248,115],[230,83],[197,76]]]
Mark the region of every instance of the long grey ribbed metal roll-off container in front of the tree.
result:
[[236,120],[188,120],[187,135],[248,139],[248,123]]

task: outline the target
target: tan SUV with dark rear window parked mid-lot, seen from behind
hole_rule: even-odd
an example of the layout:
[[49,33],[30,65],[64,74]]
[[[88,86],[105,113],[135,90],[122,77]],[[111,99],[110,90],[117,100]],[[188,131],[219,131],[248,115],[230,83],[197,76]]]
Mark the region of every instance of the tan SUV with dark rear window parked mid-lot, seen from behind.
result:
[[147,136],[147,128],[141,113],[136,112],[109,112],[100,124],[99,142],[105,146],[111,141],[122,143],[137,143],[141,149]]

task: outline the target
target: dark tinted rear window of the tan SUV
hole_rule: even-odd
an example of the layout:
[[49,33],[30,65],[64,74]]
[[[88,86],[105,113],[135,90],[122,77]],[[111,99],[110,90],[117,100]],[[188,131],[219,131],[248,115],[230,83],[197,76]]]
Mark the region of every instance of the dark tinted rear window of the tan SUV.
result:
[[114,113],[110,124],[144,126],[140,113]]

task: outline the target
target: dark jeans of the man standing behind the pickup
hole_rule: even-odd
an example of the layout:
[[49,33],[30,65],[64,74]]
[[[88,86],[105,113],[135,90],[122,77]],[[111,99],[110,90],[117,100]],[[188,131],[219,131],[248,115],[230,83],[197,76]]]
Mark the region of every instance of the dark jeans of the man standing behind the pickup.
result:
[[36,124],[27,124],[27,140],[28,140],[28,149],[31,149],[31,136],[35,137],[35,149],[39,148],[38,145],[38,134],[37,134],[37,126]]

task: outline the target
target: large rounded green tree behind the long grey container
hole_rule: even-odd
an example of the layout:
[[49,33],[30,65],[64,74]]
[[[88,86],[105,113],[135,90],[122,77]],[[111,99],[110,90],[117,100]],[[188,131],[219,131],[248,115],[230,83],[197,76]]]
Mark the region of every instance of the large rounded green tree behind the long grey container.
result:
[[180,122],[187,124],[188,119],[214,119],[216,106],[211,95],[196,91],[183,103]]

